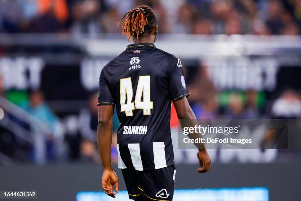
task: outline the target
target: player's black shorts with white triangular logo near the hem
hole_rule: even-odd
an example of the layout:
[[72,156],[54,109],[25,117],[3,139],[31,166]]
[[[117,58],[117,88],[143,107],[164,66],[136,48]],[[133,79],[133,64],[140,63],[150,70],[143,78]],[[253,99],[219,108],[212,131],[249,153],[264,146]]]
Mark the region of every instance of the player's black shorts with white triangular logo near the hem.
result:
[[128,196],[135,201],[172,201],[176,168],[137,171],[122,169]]

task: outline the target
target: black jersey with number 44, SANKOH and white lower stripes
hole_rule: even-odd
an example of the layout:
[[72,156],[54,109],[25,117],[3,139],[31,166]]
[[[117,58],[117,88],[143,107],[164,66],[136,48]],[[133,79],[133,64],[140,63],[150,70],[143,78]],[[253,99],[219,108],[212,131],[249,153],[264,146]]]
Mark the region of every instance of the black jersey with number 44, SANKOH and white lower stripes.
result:
[[171,101],[188,96],[180,59],[152,43],[128,45],[100,74],[98,105],[116,105],[118,167],[174,164]]

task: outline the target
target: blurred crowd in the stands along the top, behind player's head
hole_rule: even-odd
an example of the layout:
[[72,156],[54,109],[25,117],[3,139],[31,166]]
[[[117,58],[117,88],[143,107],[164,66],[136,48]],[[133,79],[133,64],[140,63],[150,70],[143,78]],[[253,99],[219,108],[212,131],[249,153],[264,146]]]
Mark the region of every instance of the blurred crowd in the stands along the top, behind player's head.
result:
[[301,0],[0,0],[0,32],[120,34],[116,23],[143,4],[153,8],[160,33],[301,33]]

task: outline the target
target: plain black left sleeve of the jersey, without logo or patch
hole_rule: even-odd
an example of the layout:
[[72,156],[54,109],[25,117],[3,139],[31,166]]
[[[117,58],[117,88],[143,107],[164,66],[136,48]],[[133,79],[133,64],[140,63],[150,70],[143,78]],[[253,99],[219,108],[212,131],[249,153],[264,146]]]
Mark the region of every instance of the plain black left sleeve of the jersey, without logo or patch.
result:
[[107,79],[105,77],[105,69],[101,70],[99,77],[99,96],[97,105],[114,105],[114,99],[109,90]]

